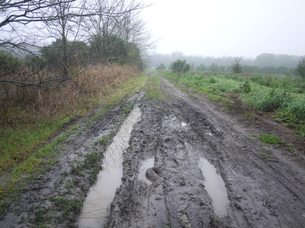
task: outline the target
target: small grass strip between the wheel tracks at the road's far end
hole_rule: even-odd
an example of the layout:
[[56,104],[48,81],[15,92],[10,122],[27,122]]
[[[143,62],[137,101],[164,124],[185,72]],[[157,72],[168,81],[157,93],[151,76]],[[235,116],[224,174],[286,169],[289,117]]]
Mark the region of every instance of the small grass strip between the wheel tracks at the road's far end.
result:
[[145,88],[145,98],[158,101],[163,101],[168,98],[167,94],[161,92],[160,79],[158,77],[149,77]]

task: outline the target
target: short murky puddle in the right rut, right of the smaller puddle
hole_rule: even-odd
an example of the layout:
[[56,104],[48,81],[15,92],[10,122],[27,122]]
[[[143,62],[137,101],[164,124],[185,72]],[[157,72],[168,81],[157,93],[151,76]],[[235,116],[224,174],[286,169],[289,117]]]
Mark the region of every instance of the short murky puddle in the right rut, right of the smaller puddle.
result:
[[218,216],[227,214],[228,192],[221,175],[216,173],[216,168],[206,159],[199,158],[199,168],[204,176],[204,188],[212,199],[214,213]]

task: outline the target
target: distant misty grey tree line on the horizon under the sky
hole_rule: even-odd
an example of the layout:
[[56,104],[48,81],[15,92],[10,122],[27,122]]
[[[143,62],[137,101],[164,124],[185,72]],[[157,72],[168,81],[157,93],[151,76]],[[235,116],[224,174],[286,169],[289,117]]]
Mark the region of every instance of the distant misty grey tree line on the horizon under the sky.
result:
[[[186,60],[192,65],[195,71],[209,71],[213,73],[228,73],[233,71],[232,65],[236,57],[203,57],[202,55],[185,55],[181,51],[171,54],[155,54],[148,67],[160,67],[162,63],[165,68],[169,68],[171,63],[177,59]],[[276,55],[263,53],[256,58],[238,57],[241,71],[244,73],[264,73],[264,74],[297,74],[296,67],[300,57],[295,55]]]

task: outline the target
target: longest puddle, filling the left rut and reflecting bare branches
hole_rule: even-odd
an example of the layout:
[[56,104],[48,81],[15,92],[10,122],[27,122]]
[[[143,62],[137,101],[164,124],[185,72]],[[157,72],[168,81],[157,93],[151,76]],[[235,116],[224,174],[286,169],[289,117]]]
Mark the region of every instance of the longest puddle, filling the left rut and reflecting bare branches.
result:
[[109,204],[113,201],[117,188],[122,184],[122,154],[128,147],[131,131],[140,116],[140,109],[138,107],[133,109],[113,137],[113,142],[107,147],[103,170],[99,172],[96,184],[91,186],[84,201],[78,227],[100,228],[107,222]]

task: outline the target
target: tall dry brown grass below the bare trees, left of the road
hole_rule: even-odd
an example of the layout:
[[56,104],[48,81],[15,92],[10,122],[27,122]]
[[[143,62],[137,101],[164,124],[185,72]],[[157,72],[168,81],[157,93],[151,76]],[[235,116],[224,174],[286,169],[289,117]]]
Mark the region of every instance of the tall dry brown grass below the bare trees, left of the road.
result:
[[1,85],[0,124],[35,124],[51,117],[58,119],[79,109],[88,109],[98,102],[96,99],[102,99],[109,89],[117,88],[135,72],[133,67],[118,64],[91,66],[77,77],[77,82],[61,90],[44,90],[42,93],[31,88]]

